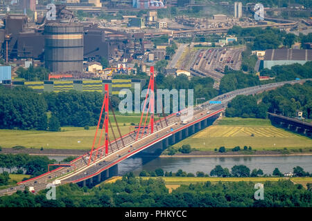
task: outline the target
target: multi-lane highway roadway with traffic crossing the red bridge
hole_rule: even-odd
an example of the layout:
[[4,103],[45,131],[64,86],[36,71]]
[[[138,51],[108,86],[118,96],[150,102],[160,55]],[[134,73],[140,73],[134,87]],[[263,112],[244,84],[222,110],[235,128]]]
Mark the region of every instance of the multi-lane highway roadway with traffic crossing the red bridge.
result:
[[[256,93],[261,93],[264,90],[272,90],[284,84],[295,84],[303,83],[306,80],[311,79],[302,79],[294,81],[283,81],[273,84],[265,84],[261,86],[254,86],[250,88],[243,88],[239,90],[234,90],[223,95],[219,95],[211,101],[221,101],[222,104],[209,104],[205,102],[200,106],[195,106],[193,109],[193,117],[187,119],[187,123],[181,122],[180,116],[177,116],[175,113],[168,115],[166,119],[162,118],[159,121],[155,122],[154,133],[145,134],[144,129],[141,130],[139,137],[141,139],[135,140],[136,132],[128,133],[123,135],[123,140],[119,137],[117,140],[111,142],[109,146],[109,153],[107,156],[101,156],[104,146],[99,148],[99,151],[94,151],[92,153],[92,161],[87,165],[87,160],[89,153],[78,157],[76,160],[71,161],[71,166],[69,167],[58,167],[53,171],[44,173],[38,177],[34,177],[30,180],[24,182],[19,182],[17,186],[13,186],[10,189],[3,189],[0,191],[0,195],[12,194],[17,190],[23,191],[25,186],[33,186],[35,191],[40,191],[46,189],[46,184],[52,183],[53,180],[61,180],[62,184],[69,182],[77,183],[87,180],[90,177],[98,175],[102,171],[109,169],[110,167],[118,164],[122,160],[139,153],[140,151],[156,144],[157,142],[170,137],[171,135],[182,131],[184,128],[193,126],[198,122],[201,122],[204,119],[218,115],[218,113],[225,110],[227,103],[231,101],[236,95],[252,95]],[[208,113],[209,111],[209,113]],[[183,112],[181,116],[183,116]],[[125,146],[123,146],[123,143]]]

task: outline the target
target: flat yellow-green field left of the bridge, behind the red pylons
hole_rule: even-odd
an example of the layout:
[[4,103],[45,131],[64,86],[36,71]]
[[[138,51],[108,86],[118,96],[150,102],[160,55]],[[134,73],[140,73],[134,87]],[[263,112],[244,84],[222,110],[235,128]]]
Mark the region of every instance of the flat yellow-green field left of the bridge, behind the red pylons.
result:
[[[121,134],[130,132],[130,124],[138,124],[140,116],[116,116]],[[114,118],[110,116],[116,137],[119,137]],[[132,131],[134,128],[131,128]],[[0,130],[0,146],[10,148],[12,146],[25,146],[27,148],[64,148],[64,149],[90,149],[96,133],[96,126],[85,130],[83,127],[62,127],[60,132],[50,131],[21,131]],[[101,130],[98,131],[98,137]],[[111,129],[108,131],[110,140],[114,140]],[[104,140],[102,139],[102,143]],[[96,142],[97,145],[97,142]]]

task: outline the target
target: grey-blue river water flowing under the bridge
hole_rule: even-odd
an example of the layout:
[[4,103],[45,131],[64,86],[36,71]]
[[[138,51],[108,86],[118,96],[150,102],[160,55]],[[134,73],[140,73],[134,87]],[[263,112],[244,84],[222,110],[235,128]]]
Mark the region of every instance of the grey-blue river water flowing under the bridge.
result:
[[[64,156],[49,156],[50,159],[63,160]],[[312,155],[300,156],[244,156],[244,157],[130,157],[118,164],[119,175],[130,171],[139,174],[141,170],[176,172],[179,169],[187,173],[203,171],[210,173],[216,165],[231,170],[234,165],[245,165],[252,169],[262,169],[263,173],[272,174],[277,167],[281,173],[293,172],[293,167],[301,166],[304,171],[312,172]]]

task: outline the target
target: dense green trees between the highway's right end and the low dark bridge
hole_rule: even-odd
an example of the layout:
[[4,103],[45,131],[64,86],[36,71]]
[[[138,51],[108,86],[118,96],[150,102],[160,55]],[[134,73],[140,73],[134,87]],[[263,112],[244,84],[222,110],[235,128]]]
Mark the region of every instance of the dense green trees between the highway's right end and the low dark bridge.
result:
[[238,95],[229,102],[225,115],[266,118],[269,111],[295,117],[297,110],[303,111],[306,118],[312,117],[312,81],[306,81],[302,85],[286,84],[257,96]]

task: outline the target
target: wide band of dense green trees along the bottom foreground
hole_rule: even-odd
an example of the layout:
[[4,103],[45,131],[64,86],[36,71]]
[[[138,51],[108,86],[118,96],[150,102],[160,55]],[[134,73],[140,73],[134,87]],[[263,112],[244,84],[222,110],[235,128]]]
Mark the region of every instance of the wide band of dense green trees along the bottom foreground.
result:
[[279,180],[264,182],[263,186],[264,200],[254,199],[252,182],[199,182],[181,185],[169,193],[162,178],[146,180],[129,173],[115,183],[101,184],[93,189],[79,188],[76,184],[58,186],[56,200],[46,200],[46,191],[36,195],[17,191],[1,197],[0,207],[312,206],[311,189],[306,190],[301,184]]

